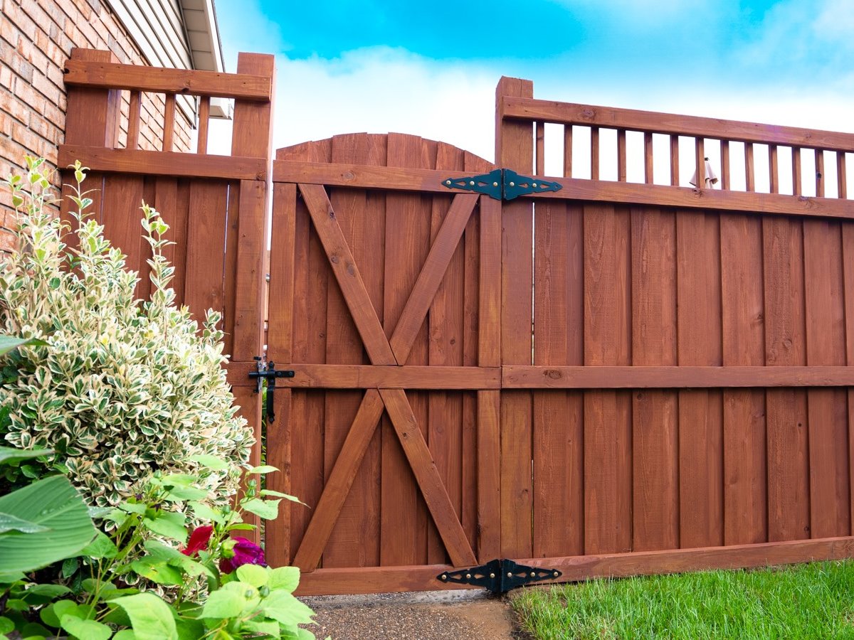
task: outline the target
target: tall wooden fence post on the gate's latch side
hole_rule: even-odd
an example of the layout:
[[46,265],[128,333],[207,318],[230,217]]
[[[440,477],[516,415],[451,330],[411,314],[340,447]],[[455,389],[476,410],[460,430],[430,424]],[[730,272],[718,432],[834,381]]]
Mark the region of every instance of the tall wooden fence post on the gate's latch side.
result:
[[[234,343],[231,359],[251,361],[263,355],[264,299],[266,294],[266,239],[270,235],[267,194],[272,177],[272,107],[276,59],[273,55],[242,53],[237,56],[237,73],[252,73],[270,79],[270,102],[236,100],[234,126],[231,133],[231,155],[264,158],[266,175],[263,180],[241,180],[237,213],[237,272],[235,274]],[[261,454],[261,396],[251,387],[234,387],[235,400],[241,414],[254,430],[255,445],[250,463],[260,464]],[[277,403],[278,404],[278,403]],[[286,424],[287,408],[278,414],[278,423]],[[282,469],[280,473],[287,473]],[[257,479],[256,479],[257,480]],[[249,517],[249,516],[247,516]],[[258,519],[250,520],[258,525]],[[253,532],[260,541],[260,529]]]

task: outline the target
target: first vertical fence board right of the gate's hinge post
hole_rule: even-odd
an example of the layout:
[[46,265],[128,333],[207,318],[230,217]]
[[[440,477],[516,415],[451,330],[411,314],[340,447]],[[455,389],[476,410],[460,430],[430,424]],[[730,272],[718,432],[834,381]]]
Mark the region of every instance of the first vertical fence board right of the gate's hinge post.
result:
[[[584,360],[582,207],[536,206],[534,364]],[[584,551],[583,399],[578,391],[534,393],[534,556]],[[558,417],[559,416],[559,417]],[[555,527],[556,522],[563,525]]]

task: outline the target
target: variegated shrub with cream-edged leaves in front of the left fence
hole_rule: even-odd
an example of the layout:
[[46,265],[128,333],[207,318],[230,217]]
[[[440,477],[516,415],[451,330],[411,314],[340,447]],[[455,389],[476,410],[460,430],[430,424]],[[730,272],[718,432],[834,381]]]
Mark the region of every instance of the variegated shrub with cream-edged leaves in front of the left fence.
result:
[[[221,367],[219,314],[208,311],[200,333],[189,311],[175,305],[173,266],[162,255],[167,225],[143,205],[153,294],[135,300],[137,273],[83,213],[91,204],[80,191],[85,167],[76,167],[71,197],[73,249],[63,242],[68,230],[46,211],[44,163],[28,166],[26,176],[9,180],[20,248],[0,265],[0,332],[47,346],[21,347],[7,361],[18,373],[0,388],[0,410],[9,412],[0,439],[56,451],[35,473],[67,471],[92,505],[119,503],[157,470],[208,474],[211,501],[225,503],[237,490],[252,434],[232,406]],[[228,468],[201,472],[190,458],[203,454],[229,461]]]

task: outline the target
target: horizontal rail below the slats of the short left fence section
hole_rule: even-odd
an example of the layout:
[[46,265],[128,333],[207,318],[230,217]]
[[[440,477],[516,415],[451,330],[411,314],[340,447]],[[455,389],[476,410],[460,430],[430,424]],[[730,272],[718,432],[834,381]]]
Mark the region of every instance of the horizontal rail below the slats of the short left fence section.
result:
[[267,164],[264,158],[61,144],[58,165],[61,167],[72,165],[74,160],[80,160],[95,172],[261,181],[266,180],[267,175]]

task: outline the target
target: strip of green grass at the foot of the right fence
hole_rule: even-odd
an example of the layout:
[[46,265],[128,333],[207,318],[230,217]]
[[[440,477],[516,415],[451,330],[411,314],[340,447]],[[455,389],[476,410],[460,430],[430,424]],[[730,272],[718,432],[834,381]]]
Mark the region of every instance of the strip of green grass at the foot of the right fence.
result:
[[854,638],[854,561],[591,580],[512,603],[537,640]]

